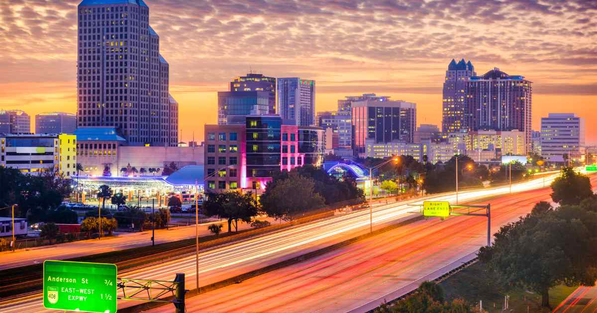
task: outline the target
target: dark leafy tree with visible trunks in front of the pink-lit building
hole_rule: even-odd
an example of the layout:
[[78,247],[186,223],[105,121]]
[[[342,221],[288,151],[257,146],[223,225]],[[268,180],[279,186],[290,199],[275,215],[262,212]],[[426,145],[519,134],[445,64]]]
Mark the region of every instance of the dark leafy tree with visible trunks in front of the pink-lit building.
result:
[[205,213],[210,216],[220,216],[227,219],[228,232],[238,231],[238,220],[251,222],[251,218],[259,213],[259,203],[254,199],[253,193],[241,194],[238,191],[227,193],[208,193],[203,203]]

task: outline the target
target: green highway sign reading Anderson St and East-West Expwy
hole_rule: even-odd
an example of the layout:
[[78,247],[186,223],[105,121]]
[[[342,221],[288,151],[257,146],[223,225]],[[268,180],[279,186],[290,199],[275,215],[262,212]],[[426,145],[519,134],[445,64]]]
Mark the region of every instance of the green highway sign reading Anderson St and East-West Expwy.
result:
[[116,312],[116,265],[44,261],[44,308]]

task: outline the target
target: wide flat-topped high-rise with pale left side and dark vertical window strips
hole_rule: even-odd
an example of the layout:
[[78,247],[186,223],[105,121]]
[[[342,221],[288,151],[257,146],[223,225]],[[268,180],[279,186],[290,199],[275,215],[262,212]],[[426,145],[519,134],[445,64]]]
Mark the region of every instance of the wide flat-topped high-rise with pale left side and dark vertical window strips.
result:
[[416,103],[391,101],[389,97],[353,102],[353,153],[365,153],[367,139],[375,143],[413,142],[416,125]]

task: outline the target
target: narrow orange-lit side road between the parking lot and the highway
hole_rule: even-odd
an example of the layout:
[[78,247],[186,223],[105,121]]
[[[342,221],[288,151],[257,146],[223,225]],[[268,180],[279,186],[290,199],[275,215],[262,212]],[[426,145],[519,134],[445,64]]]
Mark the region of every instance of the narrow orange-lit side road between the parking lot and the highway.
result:
[[[261,218],[261,220],[263,220],[263,218]],[[226,232],[226,221],[208,222],[199,224],[199,236],[210,235],[211,233],[207,230],[207,226],[210,224],[220,223],[223,225],[222,231]],[[251,226],[239,221],[238,230],[245,230],[247,228],[251,228]],[[19,266],[41,264],[45,260],[64,260],[103,252],[150,246],[152,244],[151,236],[152,231],[145,230],[138,233],[118,233],[114,237],[106,237],[102,238],[101,240],[80,240],[70,243],[54,244],[52,246],[20,249],[16,252],[2,252],[0,253],[0,270]],[[170,228],[170,230],[155,230],[156,244],[193,237],[195,237],[194,224]]]

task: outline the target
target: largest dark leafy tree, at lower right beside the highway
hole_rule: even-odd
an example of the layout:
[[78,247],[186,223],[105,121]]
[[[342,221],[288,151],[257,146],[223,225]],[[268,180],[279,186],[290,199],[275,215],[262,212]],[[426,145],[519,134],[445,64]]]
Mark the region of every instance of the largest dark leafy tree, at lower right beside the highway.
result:
[[549,289],[558,284],[593,286],[597,280],[597,213],[579,206],[550,209],[539,203],[533,212],[501,227],[479,260],[509,284],[541,295],[549,307]]

